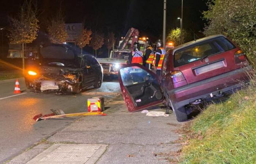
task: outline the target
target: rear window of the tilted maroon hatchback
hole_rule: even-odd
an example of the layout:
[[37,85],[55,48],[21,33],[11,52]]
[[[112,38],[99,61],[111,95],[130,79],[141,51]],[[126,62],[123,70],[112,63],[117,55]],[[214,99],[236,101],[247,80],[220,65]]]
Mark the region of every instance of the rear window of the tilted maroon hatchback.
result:
[[235,46],[224,37],[206,40],[176,51],[174,54],[174,67],[179,67],[211,55],[229,51],[233,48],[235,48]]

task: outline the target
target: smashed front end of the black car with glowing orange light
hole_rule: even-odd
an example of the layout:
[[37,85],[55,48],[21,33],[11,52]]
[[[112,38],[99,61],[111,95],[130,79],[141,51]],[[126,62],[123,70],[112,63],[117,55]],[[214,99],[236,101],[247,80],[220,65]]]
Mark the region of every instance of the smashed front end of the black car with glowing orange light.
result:
[[40,48],[38,62],[26,67],[28,89],[37,93],[78,93],[82,83],[81,58],[66,45],[51,44]]

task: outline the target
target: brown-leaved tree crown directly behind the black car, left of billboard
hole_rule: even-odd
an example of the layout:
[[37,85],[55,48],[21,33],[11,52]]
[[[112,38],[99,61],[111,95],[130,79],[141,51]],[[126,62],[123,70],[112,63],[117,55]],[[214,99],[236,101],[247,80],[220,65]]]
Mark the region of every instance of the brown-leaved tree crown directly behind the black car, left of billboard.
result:
[[52,43],[62,44],[66,41],[68,33],[65,30],[64,13],[61,11],[61,7],[55,17],[52,17],[48,23],[47,31],[49,34],[49,40]]

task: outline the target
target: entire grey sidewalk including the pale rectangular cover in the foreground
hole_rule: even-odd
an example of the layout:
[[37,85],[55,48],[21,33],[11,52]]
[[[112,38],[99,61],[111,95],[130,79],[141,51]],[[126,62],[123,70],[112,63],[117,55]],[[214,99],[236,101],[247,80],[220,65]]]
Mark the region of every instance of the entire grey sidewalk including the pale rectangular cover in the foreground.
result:
[[121,96],[109,102],[104,113],[107,116],[79,118],[8,164],[170,163],[176,158],[170,154],[181,148],[175,142],[181,135],[175,131],[183,123],[173,113],[169,117],[129,113]]

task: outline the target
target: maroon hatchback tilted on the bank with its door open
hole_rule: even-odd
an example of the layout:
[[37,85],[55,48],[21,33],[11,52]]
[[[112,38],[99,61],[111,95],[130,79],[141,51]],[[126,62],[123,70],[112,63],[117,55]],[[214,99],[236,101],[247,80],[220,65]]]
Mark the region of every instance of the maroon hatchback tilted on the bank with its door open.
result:
[[160,77],[138,64],[123,66],[118,77],[129,112],[165,102],[177,121],[185,121],[188,105],[240,89],[251,69],[236,44],[213,35],[169,50]]

